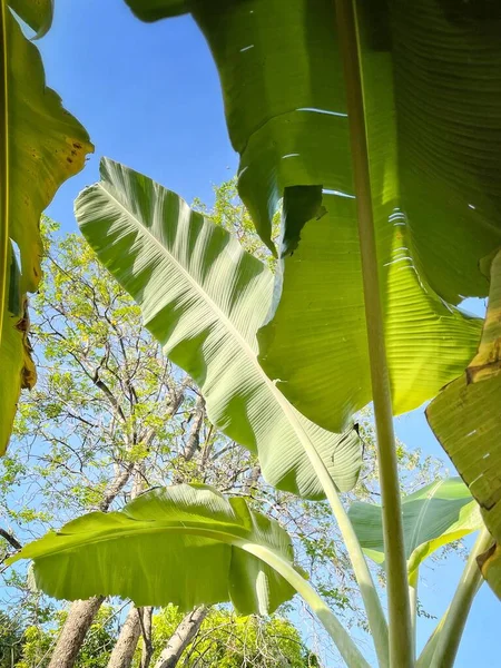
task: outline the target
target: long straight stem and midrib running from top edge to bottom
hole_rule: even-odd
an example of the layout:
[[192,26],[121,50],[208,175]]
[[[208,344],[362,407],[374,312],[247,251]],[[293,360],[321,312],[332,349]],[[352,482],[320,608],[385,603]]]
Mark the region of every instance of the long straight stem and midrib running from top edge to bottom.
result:
[[390,617],[390,667],[412,668],[414,659],[411,608],[404,553],[395,436],[393,433],[393,410],[384,341],[358,51],[358,30],[354,0],[336,0],[336,13],[337,35],[346,82],[369,358],[377,436],[377,463],[383,508],[383,534]]

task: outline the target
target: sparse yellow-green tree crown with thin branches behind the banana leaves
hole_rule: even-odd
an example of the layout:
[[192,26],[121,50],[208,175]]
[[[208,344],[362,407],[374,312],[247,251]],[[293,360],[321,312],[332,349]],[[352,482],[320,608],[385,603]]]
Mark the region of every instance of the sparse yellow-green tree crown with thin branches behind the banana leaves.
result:
[[[219,193],[233,197],[232,188]],[[220,209],[232,207],[222,202]],[[215,216],[216,224],[229,225],[229,214],[227,223],[222,220],[223,216]],[[235,226],[239,225],[238,219]],[[33,343],[45,364],[38,387],[21,404],[14,449],[2,462],[1,505],[9,522],[21,534],[40,536],[48,525],[59,527],[81,512],[102,507],[104,497],[117,505],[134,492],[137,471],[149,487],[167,478],[235,489],[250,508],[271,513],[287,527],[298,561],[317,590],[351,623],[365,628],[348,557],[328,505],[265,485],[256,458],[217,435],[205,423],[204,413],[198,444],[188,459],[189,432],[199,411],[193,384],[188,383],[177,414],[171,415],[170,406],[186,379],[167,363],[158,344],[141,328],[138,307],[109,278],[81,238],[69,235],[49,240],[57,229],[47,219],[43,233],[47,279],[35,301]],[[360,430],[365,462],[351,498],[373,500],[379,485],[369,418],[363,418]],[[153,438],[147,443],[148,433]],[[36,452],[31,449],[33,434],[40,443]],[[397,454],[402,468],[409,470],[405,489],[414,489],[439,472],[432,462],[421,462],[419,453],[409,453],[403,444],[399,444]],[[131,473],[125,488],[108,497],[116,471],[125,472],[128,465]],[[29,499],[9,501],[12,485],[21,490],[29,485]],[[36,512],[31,510],[33,499]],[[22,578],[12,584],[22,587]],[[39,623],[33,629],[33,638],[38,632],[42,646],[46,629]],[[310,660],[315,665],[315,659]]]

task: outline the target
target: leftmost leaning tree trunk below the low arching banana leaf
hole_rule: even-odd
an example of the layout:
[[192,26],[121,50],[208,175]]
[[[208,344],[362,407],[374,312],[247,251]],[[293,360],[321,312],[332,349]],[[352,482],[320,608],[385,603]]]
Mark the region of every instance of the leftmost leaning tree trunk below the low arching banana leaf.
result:
[[49,668],[71,668],[73,666],[87,631],[104,600],[104,597],[95,596],[87,601],[71,603],[68,618],[52,652]]

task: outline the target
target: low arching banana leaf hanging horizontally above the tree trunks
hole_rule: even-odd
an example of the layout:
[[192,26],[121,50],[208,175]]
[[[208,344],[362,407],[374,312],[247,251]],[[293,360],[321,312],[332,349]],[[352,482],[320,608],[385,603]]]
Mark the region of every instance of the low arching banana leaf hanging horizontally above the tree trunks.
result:
[[146,492],[119,512],[91,512],[26,546],[9,560],[33,560],[35,582],[56,598],[120,596],[137,606],[184,611],[232,601],[243,615],[268,615],[295,591],[253,548],[287,567],[287,532],[206,485]]

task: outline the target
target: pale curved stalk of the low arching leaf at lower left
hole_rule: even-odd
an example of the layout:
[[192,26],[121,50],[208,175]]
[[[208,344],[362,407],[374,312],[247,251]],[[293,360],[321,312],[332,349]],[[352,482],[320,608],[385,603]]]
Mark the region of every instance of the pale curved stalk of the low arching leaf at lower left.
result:
[[303,576],[267,548],[245,542],[239,547],[271,566],[297,591],[322,622],[348,668],[371,668],[337,617]]

